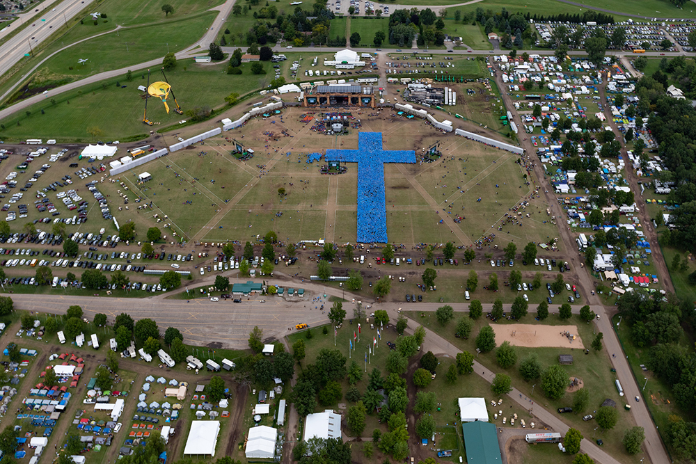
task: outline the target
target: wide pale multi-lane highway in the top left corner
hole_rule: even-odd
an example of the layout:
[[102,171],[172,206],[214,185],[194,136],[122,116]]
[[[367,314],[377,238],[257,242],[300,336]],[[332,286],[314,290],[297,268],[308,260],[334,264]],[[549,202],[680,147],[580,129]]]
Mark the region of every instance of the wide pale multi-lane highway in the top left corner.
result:
[[27,26],[22,31],[19,31],[17,35],[10,38],[0,47],[0,75],[5,74],[19,60],[24,58],[24,54],[31,53],[32,47],[36,47],[61,26],[65,26],[68,18],[77,15],[92,1],[63,0],[62,3],[51,10],[46,8],[42,12],[43,14],[33,17],[31,26]]

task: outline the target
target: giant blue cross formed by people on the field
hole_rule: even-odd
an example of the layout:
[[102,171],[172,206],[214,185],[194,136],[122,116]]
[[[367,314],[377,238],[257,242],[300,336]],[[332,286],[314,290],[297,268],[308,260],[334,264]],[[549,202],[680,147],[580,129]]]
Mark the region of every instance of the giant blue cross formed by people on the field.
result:
[[416,152],[383,150],[381,132],[361,132],[358,150],[326,150],[326,161],[358,163],[358,242],[388,243],[384,163],[416,163]]

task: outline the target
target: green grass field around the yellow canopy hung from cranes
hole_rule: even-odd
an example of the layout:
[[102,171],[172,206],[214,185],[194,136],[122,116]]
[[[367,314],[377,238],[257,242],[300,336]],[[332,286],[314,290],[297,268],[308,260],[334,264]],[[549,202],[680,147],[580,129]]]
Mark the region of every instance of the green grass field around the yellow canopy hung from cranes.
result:
[[[226,65],[227,63],[223,62],[220,65],[203,66],[186,60],[180,61],[175,70],[167,73],[168,81],[176,90],[177,101],[184,111],[202,106],[222,106],[224,98],[232,90],[243,95],[265,86],[264,82],[273,79],[272,73],[251,77],[249,63],[242,65],[244,74],[228,75],[222,72]],[[264,66],[267,70],[271,69],[270,62],[264,63]],[[211,72],[214,70],[220,72]],[[6,141],[40,136],[56,138],[58,141],[87,141],[88,125],[85,122],[89,121],[89,126],[100,127],[104,131],[104,138],[107,139],[118,138],[125,141],[129,138],[143,138],[149,128],[142,122],[145,104],[136,88],[147,83],[145,71],[134,69],[134,80],[131,82],[123,75],[84,86],[79,90],[61,93],[55,98],[55,105],[49,102],[49,99],[35,104],[29,108],[29,117],[26,113],[20,113],[5,121],[7,128],[2,132],[3,137]],[[117,81],[121,85],[127,85],[127,88],[116,87]],[[150,103],[148,119],[154,122],[161,122],[166,126],[173,125],[182,118],[173,111],[167,115],[164,105],[155,101]],[[41,114],[42,109],[45,110],[45,115]]]

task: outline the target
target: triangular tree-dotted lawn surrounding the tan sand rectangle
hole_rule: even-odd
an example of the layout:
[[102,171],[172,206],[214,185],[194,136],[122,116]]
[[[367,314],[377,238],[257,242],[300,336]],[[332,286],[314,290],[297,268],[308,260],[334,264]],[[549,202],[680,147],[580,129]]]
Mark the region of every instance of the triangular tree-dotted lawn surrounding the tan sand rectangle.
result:
[[[425,318],[422,317],[422,315],[424,314]],[[438,335],[440,335],[441,337],[445,337],[446,339],[448,339],[449,342],[454,344],[454,346],[457,346],[459,349],[469,351],[470,353],[475,353],[474,339],[477,333],[479,332],[480,328],[490,323],[489,319],[486,319],[485,317],[478,319],[474,323],[472,335],[468,339],[460,339],[454,337],[454,326],[456,324],[457,317],[459,317],[459,314],[456,315],[454,321],[450,321],[450,323],[448,323],[448,325],[444,327],[434,321],[434,316],[428,318],[428,315],[432,315],[432,313],[406,312],[406,316],[416,321],[416,323],[420,323],[420,321],[423,321],[425,319],[432,320],[432,323],[430,323],[432,330],[437,330]],[[592,342],[592,339],[594,337],[594,324],[584,323],[580,321],[578,315],[575,314],[571,319],[566,321],[562,321],[559,317],[557,317],[557,314],[551,314],[548,317],[548,319],[546,319],[543,322],[536,321],[532,314],[528,314],[528,316],[525,317],[521,322],[535,325],[546,324],[552,326],[575,324],[578,328],[578,335],[580,335],[581,339],[583,340],[583,343],[588,348],[590,346],[590,342]],[[498,322],[497,324],[506,323],[509,322],[507,320],[504,320]],[[497,344],[499,345],[500,342],[497,342]],[[498,366],[495,358],[495,350],[491,351],[490,353],[481,353],[479,355],[476,355],[476,360],[478,362],[481,362],[482,365],[491,369],[494,372],[504,372],[505,374],[509,375],[512,378],[512,385],[514,387],[516,387],[523,394],[527,395],[530,399],[535,401],[535,403],[539,401],[539,404],[543,405],[544,408],[546,408],[546,410],[550,411],[555,415],[558,415],[558,417],[564,420],[564,422],[568,422],[569,424],[571,424],[571,426],[574,426],[576,429],[580,430],[583,433],[583,435],[585,435],[585,438],[588,439],[592,437],[592,434],[594,433],[594,427],[596,427],[596,424],[594,423],[594,421],[584,422],[582,419],[582,415],[587,413],[592,414],[593,411],[596,410],[596,408],[599,408],[599,405],[602,401],[604,401],[604,399],[613,399],[614,401],[616,401],[617,410],[619,411],[619,426],[617,426],[617,428],[615,429],[606,431],[604,433],[601,433],[601,431],[596,431],[596,438],[602,438],[602,440],[604,441],[604,447],[608,449],[608,452],[612,456],[621,456],[622,462],[638,463],[640,461],[640,457],[628,456],[621,442],[625,429],[628,429],[630,426],[633,426],[634,424],[631,423],[632,416],[630,415],[630,413],[628,413],[623,408],[624,404],[626,404],[626,400],[619,397],[618,392],[613,387],[615,374],[613,374],[610,371],[611,365],[608,353],[606,353],[606,351],[604,350],[599,352],[590,350],[590,353],[585,355],[583,354],[583,351],[581,351],[582,348],[582,346],[575,346],[574,349],[570,346],[569,349],[530,349],[523,348],[520,346],[514,347],[517,353],[518,363],[521,362],[521,360],[523,360],[525,356],[533,352],[537,354],[539,362],[541,362],[541,365],[544,368],[550,365],[557,364],[558,355],[560,354],[574,355],[574,364],[564,365],[562,367],[565,371],[567,371],[571,378],[578,377],[583,380],[585,387],[590,392],[590,406],[588,406],[587,410],[583,411],[582,413],[574,413],[571,415],[558,415],[556,410],[557,408],[572,406],[572,394],[565,394],[564,397],[562,397],[561,399],[551,400],[544,397],[543,391],[540,388],[535,388],[534,394],[536,396],[532,395],[532,388],[534,388],[532,385],[541,387],[541,385],[539,385],[539,381],[524,381],[519,374],[517,366],[509,369],[503,369],[502,367]]]

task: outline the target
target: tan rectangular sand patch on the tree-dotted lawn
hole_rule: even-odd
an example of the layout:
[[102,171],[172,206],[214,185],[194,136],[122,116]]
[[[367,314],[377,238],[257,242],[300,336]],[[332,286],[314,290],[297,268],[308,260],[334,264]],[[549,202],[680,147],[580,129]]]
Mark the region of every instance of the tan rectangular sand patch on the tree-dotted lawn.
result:
[[[576,326],[536,326],[532,324],[505,324],[498,326],[491,324],[496,333],[496,344],[510,342],[514,346],[527,346],[538,348],[541,346],[551,346],[555,348],[584,347],[583,340],[578,335]],[[567,337],[566,333],[571,333],[575,339]]]

